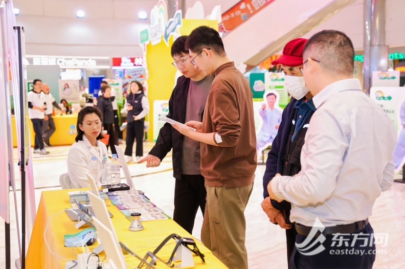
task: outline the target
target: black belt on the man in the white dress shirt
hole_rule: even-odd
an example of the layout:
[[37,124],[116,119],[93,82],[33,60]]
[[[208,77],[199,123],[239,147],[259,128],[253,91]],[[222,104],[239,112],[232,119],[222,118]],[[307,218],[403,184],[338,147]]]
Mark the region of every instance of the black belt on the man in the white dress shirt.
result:
[[[331,227],[325,227],[322,231],[323,235],[328,234],[335,234],[335,233],[356,233],[360,230],[364,229],[364,227],[368,224],[368,218],[364,221],[359,221],[351,224],[343,224],[343,225],[336,225]],[[308,236],[311,232],[312,227],[304,226],[301,224],[295,223],[295,230],[297,234],[302,236]],[[318,230],[314,236],[314,238],[318,237],[321,232]]]

